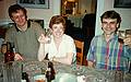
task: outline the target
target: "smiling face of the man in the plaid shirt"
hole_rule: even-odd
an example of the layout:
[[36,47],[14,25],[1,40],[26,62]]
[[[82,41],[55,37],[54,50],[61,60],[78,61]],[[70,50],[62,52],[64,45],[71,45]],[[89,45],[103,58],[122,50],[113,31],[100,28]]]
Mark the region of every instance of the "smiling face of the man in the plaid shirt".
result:
[[102,28],[106,35],[115,34],[118,27],[117,19],[103,19],[102,21]]

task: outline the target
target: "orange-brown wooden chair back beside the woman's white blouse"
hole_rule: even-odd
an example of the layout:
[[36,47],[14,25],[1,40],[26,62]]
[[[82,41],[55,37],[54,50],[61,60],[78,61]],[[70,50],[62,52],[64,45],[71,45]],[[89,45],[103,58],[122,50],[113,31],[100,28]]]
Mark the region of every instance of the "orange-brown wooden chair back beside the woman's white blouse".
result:
[[76,63],[83,65],[83,50],[84,50],[84,42],[74,39],[74,44],[76,47]]

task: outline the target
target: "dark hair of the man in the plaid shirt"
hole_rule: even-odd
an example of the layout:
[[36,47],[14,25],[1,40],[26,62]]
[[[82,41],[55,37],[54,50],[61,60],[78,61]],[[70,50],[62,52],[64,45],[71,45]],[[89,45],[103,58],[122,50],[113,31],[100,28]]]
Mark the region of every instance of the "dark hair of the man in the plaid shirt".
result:
[[114,10],[106,11],[102,16],[100,21],[103,22],[103,19],[117,19],[117,23],[121,23],[121,16],[119,13],[117,13]]

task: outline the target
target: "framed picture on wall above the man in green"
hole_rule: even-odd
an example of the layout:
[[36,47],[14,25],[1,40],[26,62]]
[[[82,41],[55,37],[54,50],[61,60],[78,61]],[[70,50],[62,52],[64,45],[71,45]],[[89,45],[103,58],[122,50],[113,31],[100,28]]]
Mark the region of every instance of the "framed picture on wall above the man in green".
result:
[[49,9],[49,0],[16,0],[16,2],[25,8]]

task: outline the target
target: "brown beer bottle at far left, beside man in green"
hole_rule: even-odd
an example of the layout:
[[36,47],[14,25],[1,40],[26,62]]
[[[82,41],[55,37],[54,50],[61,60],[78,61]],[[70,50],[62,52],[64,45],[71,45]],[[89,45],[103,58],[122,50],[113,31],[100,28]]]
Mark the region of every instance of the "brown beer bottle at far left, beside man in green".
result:
[[14,61],[13,46],[7,42],[7,52],[4,54],[4,62]]

